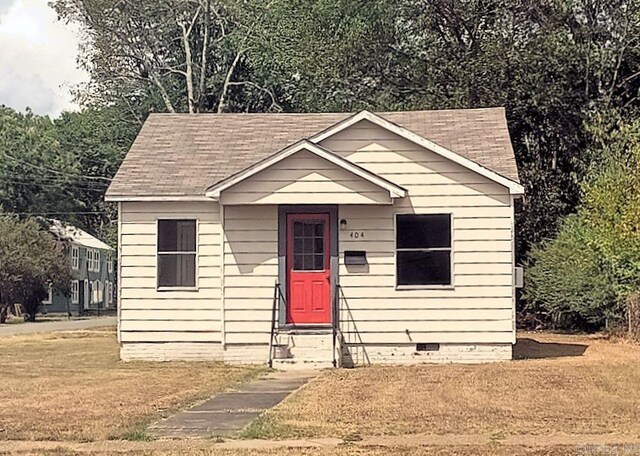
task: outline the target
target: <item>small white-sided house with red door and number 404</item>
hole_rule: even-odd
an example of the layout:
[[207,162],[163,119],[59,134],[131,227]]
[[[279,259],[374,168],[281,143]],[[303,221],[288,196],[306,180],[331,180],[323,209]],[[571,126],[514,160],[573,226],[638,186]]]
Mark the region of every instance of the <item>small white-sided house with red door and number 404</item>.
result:
[[124,360],[507,360],[503,109],[152,114],[119,207]]

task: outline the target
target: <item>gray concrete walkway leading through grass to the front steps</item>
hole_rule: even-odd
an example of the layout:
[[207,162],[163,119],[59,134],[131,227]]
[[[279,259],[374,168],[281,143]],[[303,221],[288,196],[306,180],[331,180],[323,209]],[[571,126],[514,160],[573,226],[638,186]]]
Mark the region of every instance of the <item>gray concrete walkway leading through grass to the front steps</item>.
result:
[[173,438],[233,435],[316,375],[318,371],[271,372],[156,423],[149,432]]

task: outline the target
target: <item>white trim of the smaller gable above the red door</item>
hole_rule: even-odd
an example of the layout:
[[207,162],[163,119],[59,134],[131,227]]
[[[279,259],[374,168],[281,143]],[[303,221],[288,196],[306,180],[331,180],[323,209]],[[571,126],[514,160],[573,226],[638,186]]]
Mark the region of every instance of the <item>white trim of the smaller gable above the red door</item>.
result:
[[368,171],[349,160],[346,160],[330,150],[325,149],[324,147],[318,146],[306,139],[298,141],[297,143],[282,149],[281,151],[267,157],[264,160],[255,163],[254,165],[246,168],[245,170],[230,176],[229,178],[220,181],[219,183],[212,185],[207,189],[206,196],[210,198],[219,198],[220,194],[225,191],[227,188],[236,185],[239,182],[242,182],[245,179],[259,173],[260,171],[269,168],[270,166],[281,162],[282,160],[290,157],[300,151],[311,152],[314,155],[317,155],[320,158],[323,158],[334,165],[349,171],[356,176],[371,182],[374,185],[377,185],[380,188],[383,188],[389,192],[389,196],[391,198],[404,198],[407,195],[406,189],[400,187],[399,185],[394,184],[393,182],[385,179],[384,177],[378,176],[371,171]]

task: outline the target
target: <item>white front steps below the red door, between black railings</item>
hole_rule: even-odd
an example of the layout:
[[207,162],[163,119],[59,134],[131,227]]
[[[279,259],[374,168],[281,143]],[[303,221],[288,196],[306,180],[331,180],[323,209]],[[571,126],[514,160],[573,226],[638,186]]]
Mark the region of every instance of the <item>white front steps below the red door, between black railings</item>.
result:
[[[336,352],[339,353],[338,347]],[[274,354],[274,369],[306,370],[333,367],[333,333],[324,329],[281,330],[276,336]]]

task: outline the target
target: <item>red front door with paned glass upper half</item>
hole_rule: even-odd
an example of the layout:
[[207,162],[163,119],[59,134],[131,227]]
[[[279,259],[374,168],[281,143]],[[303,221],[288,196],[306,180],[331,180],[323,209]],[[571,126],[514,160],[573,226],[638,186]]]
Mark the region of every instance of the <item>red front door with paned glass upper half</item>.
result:
[[287,323],[331,323],[329,214],[287,215]]

